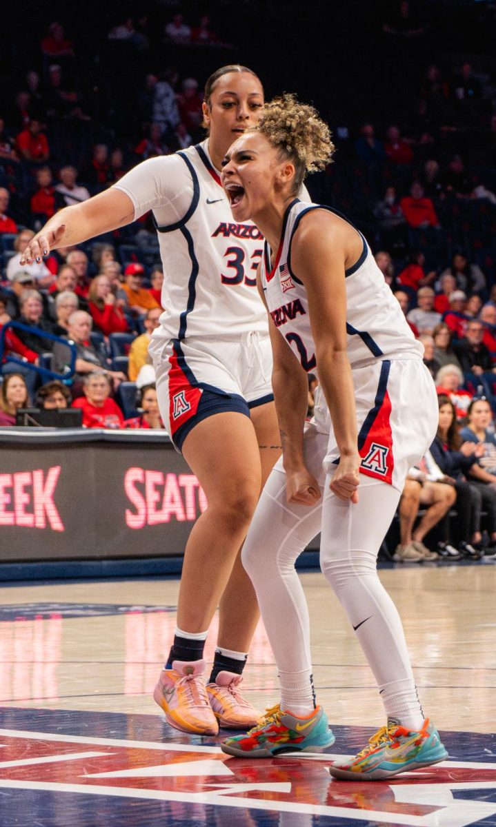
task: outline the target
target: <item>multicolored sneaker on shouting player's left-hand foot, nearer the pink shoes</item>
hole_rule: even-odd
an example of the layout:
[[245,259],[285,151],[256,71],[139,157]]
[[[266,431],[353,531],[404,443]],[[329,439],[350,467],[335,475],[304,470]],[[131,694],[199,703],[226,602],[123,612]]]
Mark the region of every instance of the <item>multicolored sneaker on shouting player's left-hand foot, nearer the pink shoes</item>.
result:
[[306,718],[296,718],[291,712],[283,712],[277,704],[265,711],[253,729],[228,738],[220,748],[223,753],[238,758],[271,758],[272,755],[297,751],[321,753],[334,742],[335,737],[321,706]]

